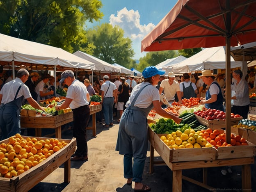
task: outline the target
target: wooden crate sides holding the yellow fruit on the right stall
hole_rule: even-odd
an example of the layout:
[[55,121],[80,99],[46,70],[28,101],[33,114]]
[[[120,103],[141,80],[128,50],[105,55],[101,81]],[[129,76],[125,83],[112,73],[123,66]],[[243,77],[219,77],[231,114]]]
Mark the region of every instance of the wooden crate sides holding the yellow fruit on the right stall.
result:
[[215,160],[217,151],[215,147],[170,149],[164,142],[162,142],[159,137],[160,135],[154,133],[151,128],[148,129],[151,145],[167,164],[169,162]]

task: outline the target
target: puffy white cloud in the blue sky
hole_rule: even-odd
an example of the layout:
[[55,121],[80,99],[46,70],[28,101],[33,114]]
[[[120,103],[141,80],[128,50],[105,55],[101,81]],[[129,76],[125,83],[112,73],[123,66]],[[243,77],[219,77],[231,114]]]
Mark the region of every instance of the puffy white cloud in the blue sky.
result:
[[146,55],[145,52],[140,53],[142,39],[153,30],[155,25],[148,23],[147,25],[140,24],[140,15],[138,11],[131,9],[128,11],[126,7],[117,11],[117,16],[110,15],[110,24],[119,25],[125,34],[125,37],[129,37],[133,41],[133,49],[135,52],[134,59],[139,59]]

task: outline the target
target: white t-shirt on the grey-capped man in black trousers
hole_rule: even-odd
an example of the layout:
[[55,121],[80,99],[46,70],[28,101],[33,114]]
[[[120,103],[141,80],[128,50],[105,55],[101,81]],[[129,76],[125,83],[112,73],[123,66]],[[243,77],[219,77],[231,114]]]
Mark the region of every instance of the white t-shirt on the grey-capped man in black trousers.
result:
[[78,107],[89,105],[87,101],[87,89],[85,84],[80,82],[79,80],[74,80],[72,84],[69,86],[66,98],[73,99],[70,103],[71,109],[76,109]]

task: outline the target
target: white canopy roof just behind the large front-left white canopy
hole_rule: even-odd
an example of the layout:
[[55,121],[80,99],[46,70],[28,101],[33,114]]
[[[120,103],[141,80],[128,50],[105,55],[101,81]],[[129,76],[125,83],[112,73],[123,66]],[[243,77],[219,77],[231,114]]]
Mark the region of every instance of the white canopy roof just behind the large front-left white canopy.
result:
[[73,55],[76,55],[76,56],[86,59],[92,63],[95,63],[96,71],[111,71],[111,72],[116,72],[116,73],[121,72],[120,67],[113,66],[112,64],[109,64],[101,59],[98,59],[97,57],[94,57],[94,56],[84,53],[82,51],[76,51],[75,53],[73,53]]

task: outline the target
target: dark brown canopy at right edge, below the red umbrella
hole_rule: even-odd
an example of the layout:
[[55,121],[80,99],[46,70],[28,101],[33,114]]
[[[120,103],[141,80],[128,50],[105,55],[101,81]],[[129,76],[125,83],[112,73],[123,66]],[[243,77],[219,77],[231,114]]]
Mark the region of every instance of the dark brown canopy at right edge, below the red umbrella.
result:
[[230,51],[235,61],[256,60],[256,42],[246,43],[242,46],[231,47]]

